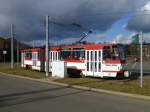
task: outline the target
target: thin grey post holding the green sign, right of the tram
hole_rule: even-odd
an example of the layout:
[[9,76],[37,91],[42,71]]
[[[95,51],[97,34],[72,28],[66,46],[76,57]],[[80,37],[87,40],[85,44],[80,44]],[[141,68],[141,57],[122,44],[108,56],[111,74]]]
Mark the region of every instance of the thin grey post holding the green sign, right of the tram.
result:
[[142,88],[143,87],[143,34],[141,32],[140,34],[140,42],[141,42],[141,45],[140,45],[140,61],[141,61],[141,77],[140,77],[140,87]]

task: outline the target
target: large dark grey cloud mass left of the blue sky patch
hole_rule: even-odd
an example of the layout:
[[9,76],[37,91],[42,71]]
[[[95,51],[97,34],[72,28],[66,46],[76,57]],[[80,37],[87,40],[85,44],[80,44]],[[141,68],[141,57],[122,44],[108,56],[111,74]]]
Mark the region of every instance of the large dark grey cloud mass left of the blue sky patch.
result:
[[[42,40],[45,37],[45,15],[50,15],[50,21],[53,21],[50,34],[54,39],[78,37],[88,29],[105,31],[123,15],[115,12],[128,11],[135,1],[0,0],[0,35],[8,36],[9,26],[14,23],[20,40]],[[72,23],[81,24],[86,29],[71,26]]]

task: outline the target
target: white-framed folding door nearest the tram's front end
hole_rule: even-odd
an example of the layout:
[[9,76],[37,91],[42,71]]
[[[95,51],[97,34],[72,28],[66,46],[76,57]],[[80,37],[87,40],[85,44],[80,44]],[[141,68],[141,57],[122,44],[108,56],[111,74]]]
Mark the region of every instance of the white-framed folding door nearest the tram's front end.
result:
[[98,76],[101,72],[101,51],[100,50],[87,50],[85,53],[86,58],[86,75]]

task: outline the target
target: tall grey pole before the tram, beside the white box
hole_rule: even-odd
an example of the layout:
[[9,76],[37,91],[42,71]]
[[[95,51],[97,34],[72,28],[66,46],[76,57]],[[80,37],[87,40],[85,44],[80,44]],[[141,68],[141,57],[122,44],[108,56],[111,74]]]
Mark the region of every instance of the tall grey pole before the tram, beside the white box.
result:
[[46,76],[49,75],[49,16],[46,16]]

